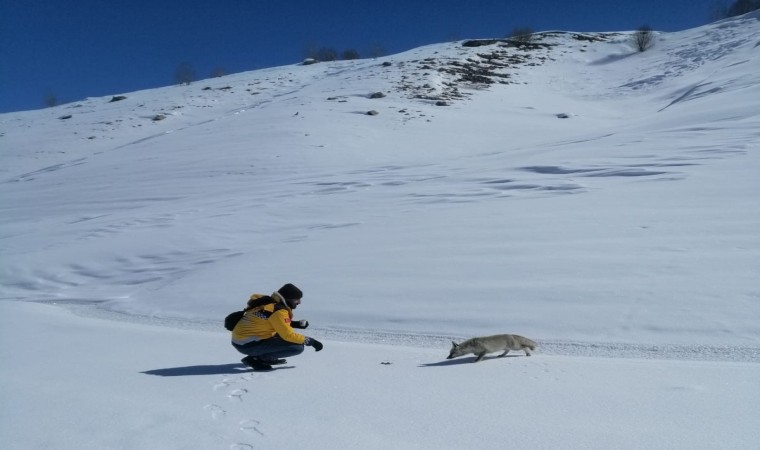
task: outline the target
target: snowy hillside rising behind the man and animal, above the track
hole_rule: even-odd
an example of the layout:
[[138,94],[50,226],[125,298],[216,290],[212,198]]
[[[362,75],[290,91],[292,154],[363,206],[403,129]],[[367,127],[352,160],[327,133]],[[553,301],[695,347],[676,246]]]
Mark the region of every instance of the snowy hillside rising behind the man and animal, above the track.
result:
[[[2,296],[215,320],[293,280],[331,327],[757,343],[756,27],[641,54],[626,33],[442,44],[3,115]],[[508,78],[456,81],[468,60]]]

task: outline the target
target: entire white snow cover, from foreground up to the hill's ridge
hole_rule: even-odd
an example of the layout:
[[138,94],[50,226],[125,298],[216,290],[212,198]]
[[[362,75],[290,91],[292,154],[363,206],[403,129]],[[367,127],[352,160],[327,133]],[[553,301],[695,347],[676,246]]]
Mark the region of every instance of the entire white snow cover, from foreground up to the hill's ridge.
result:
[[[3,448],[756,448],[758,19],[0,115]],[[325,348],[246,370],[286,282]]]

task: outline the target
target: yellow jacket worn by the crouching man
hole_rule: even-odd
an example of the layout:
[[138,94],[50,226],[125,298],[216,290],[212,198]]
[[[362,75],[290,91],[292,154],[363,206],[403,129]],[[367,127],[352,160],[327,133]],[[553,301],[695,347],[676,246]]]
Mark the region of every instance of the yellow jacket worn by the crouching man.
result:
[[[263,297],[253,294],[251,300]],[[285,299],[275,292],[272,294],[275,303],[250,309],[232,330],[232,342],[245,345],[250,342],[269,339],[275,335],[294,344],[303,344],[306,337],[293,331],[290,325],[293,311],[285,303]]]

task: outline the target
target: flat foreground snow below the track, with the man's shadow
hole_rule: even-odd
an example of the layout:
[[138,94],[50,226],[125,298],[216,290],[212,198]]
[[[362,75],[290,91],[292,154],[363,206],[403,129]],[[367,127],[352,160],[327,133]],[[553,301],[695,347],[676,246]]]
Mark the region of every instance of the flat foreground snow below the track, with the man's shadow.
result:
[[[14,450],[751,449],[760,438],[756,362],[539,349],[472,364],[443,348],[326,341],[257,373],[220,332],[30,303],[0,312],[0,430]],[[29,338],[17,322],[41,331]]]

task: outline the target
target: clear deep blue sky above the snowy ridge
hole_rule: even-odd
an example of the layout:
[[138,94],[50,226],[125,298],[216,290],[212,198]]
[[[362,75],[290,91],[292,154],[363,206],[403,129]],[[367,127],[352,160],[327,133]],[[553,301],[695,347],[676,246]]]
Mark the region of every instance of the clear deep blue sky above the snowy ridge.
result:
[[386,54],[534,31],[680,31],[715,0],[0,0],[0,112],[294,64],[308,46]]

